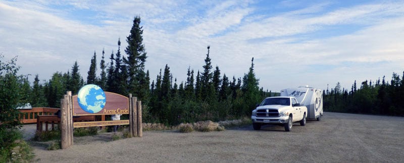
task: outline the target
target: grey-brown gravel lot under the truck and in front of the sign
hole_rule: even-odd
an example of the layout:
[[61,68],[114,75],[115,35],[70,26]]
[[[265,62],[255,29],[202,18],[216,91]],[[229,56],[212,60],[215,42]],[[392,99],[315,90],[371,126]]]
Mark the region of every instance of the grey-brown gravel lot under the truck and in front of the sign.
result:
[[110,141],[75,138],[64,150],[35,146],[38,162],[402,162],[404,117],[324,113],[320,122],[223,132],[147,131]]

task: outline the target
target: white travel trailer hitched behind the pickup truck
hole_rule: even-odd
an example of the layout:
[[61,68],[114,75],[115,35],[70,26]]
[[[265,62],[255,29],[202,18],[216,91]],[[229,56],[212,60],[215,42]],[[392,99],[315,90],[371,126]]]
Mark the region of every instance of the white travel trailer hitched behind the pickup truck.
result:
[[323,90],[313,87],[297,87],[281,90],[281,96],[292,96],[307,107],[307,119],[321,120],[323,116]]

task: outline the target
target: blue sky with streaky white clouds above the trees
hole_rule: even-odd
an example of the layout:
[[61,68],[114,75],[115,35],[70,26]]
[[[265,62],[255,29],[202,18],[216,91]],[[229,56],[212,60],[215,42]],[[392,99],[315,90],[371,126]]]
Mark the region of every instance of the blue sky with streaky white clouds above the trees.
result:
[[[87,78],[103,49],[127,46],[141,18],[145,69],[156,80],[166,64],[177,84],[187,69],[243,77],[254,57],[264,90],[375,81],[404,71],[404,1],[0,1],[0,54],[17,58],[20,74],[44,83],[78,62]],[[124,55],[126,56],[126,55]],[[99,74],[99,73],[98,73]],[[151,83],[151,81],[150,81]]]

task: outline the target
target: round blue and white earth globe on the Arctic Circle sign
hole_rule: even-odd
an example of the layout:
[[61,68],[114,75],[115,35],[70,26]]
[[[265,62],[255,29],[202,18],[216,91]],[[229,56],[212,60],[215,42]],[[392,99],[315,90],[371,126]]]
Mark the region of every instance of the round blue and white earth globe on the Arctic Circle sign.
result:
[[85,112],[97,113],[103,110],[105,106],[105,92],[97,85],[84,85],[77,94],[77,101]]

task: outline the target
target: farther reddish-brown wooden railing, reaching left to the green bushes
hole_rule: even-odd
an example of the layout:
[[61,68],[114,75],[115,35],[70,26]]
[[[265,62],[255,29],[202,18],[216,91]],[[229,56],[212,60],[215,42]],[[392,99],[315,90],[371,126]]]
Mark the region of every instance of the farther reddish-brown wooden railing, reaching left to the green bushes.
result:
[[19,119],[23,124],[36,123],[38,116],[55,115],[59,110],[60,108],[51,107],[33,107],[29,110],[19,110],[21,112]]

